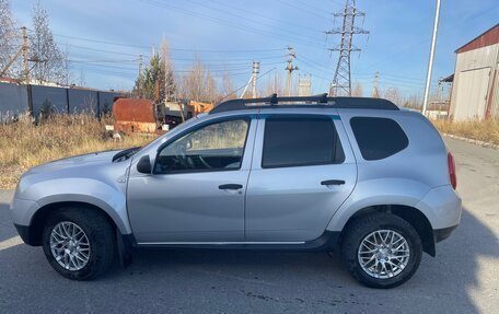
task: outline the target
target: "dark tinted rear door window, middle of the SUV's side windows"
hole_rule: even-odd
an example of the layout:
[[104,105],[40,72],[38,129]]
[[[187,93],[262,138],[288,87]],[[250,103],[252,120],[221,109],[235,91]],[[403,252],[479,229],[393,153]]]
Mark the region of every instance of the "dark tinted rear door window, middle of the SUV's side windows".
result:
[[343,163],[345,153],[329,117],[268,117],[262,167]]

